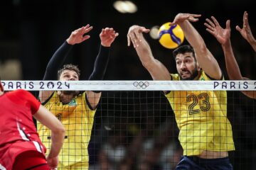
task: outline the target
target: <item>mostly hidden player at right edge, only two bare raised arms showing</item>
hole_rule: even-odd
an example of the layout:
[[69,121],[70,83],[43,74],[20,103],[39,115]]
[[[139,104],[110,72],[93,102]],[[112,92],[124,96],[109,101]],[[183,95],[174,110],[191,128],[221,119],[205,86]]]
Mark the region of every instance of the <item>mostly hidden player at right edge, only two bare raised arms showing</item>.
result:
[[[226,22],[226,28],[222,28],[218,21],[212,16],[212,21],[206,19],[205,26],[207,27],[209,33],[211,33],[220,42],[223,47],[223,52],[225,55],[225,65],[228,71],[228,77],[232,80],[248,80],[247,77],[242,77],[240,69],[238,67],[238,62],[235,60],[235,55],[232,49],[230,40],[230,21]],[[241,33],[242,37],[250,43],[253,50],[256,52],[256,40],[252,35],[252,30],[248,23],[248,13],[245,11],[243,16],[243,27],[236,26],[237,30]],[[250,98],[256,99],[256,91],[242,91],[243,94]]]

